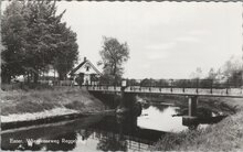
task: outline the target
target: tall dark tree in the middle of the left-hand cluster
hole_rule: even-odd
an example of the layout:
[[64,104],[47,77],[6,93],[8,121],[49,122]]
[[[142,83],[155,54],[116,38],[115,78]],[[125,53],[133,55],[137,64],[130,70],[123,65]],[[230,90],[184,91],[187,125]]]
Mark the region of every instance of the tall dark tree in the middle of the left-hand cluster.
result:
[[[29,29],[28,43],[24,46],[28,52],[25,66],[41,72],[53,63],[57,54],[61,33],[56,32],[56,28],[63,13],[56,15],[55,3],[51,1],[28,1],[23,9]],[[35,73],[34,82],[38,82],[38,76]]]

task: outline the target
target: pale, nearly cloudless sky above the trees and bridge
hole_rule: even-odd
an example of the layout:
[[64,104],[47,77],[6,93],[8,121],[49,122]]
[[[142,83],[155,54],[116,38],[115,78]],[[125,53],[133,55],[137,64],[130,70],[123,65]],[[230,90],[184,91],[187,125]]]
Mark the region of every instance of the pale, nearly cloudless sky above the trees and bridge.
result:
[[126,78],[188,78],[242,56],[240,2],[61,1],[57,9],[77,33],[80,62],[96,65],[103,36],[128,43]]

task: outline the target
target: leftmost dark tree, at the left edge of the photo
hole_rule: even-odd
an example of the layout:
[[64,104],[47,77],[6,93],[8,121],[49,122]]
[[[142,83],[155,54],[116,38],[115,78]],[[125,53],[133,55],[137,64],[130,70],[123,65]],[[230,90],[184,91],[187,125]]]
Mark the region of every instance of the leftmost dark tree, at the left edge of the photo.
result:
[[10,83],[11,77],[24,74],[22,68],[25,50],[27,22],[22,15],[22,4],[19,1],[11,2],[2,17],[2,44],[1,52],[1,78],[3,83]]

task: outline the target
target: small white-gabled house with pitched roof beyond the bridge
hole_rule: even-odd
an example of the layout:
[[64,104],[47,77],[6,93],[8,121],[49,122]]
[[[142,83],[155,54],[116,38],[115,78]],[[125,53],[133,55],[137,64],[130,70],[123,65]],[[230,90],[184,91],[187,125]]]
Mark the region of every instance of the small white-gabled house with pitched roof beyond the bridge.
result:
[[68,74],[75,85],[97,85],[102,73],[86,58]]

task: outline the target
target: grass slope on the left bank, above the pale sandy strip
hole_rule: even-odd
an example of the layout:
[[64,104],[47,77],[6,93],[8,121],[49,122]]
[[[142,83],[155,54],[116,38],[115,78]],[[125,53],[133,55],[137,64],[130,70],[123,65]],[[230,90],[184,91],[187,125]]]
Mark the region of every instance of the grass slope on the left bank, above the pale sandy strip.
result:
[[104,105],[85,89],[59,87],[25,90],[1,90],[1,115],[39,112],[65,107],[81,112],[104,109]]

